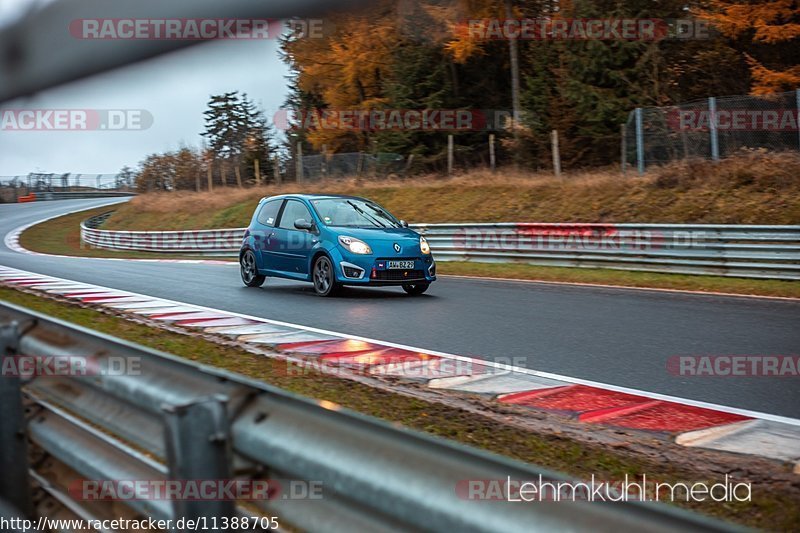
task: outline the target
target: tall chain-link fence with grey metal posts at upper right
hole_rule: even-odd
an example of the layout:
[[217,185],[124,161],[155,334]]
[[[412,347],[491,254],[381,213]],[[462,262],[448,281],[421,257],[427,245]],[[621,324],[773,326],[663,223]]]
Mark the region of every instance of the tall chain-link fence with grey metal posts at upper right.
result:
[[764,96],[723,96],[628,115],[622,157],[639,172],[689,158],[718,160],[743,148],[800,151],[800,89]]

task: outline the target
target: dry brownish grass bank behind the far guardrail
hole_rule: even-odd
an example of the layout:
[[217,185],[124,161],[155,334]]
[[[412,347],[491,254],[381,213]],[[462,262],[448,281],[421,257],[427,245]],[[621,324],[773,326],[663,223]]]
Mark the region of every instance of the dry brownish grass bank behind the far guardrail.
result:
[[246,226],[259,198],[286,192],[367,196],[410,222],[663,222],[797,224],[800,156],[750,152],[623,178],[616,169],[547,174],[476,170],[453,178],[340,180],[257,189],[141,195],[109,229]]

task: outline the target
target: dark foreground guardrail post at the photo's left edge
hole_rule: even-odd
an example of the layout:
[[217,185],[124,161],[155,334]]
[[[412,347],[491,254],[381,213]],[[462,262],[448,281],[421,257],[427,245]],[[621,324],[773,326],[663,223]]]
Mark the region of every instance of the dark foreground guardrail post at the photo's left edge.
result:
[[[7,368],[6,359],[17,355],[18,346],[17,322],[0,324],[0,364],[3,369]],[[6,500],[22,513],[32,516],[28,468],[22,381],[17,375],[0,372],[0,500]]]

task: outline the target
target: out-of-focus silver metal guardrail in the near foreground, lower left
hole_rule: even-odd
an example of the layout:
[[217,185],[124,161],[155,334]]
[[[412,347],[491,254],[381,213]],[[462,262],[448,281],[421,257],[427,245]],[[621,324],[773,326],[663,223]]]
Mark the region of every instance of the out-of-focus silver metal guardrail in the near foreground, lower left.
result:
[[[87,376],[0,378],[0,500],[29,510],[29,475],[76,515],[76,479],[315,481],[319,499],[130,500],[158,519],[278,515],[313,531],[715,531],[670,506],[459,496],[467,480],[565,480],[532,465],[398,428],[261,382],[0,303],[0,354],[85,358]],[[135,361],[136,372],[110,371]],[[24,400],[23,400],[24,399]],[[25,410],[23,416],[23,401]],[[72,472],[29,471],[26,440]],[[39,464],[44,461],[39,461]],[[53,471],[52,469],[50,470]]]

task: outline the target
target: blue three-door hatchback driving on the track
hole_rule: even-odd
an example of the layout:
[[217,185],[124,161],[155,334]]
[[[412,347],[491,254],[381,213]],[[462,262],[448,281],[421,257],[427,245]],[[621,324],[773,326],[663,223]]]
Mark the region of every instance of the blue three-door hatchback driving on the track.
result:
[[248,287],[260,287],[271,276],[313,282],[320,296],[344,285],[400,286],[418,295],[436,281],[425,237],[355,196],[262,199],[244,234],[239,264]]

